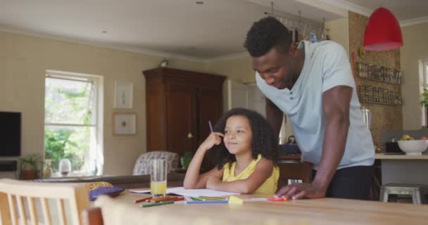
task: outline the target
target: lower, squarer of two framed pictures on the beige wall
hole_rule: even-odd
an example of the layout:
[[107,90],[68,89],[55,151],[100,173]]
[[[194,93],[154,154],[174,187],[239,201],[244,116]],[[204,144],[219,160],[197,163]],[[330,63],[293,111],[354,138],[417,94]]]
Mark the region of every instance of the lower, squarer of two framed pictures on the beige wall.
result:
[[136,113],[113,113],[113,135],[137,134]]

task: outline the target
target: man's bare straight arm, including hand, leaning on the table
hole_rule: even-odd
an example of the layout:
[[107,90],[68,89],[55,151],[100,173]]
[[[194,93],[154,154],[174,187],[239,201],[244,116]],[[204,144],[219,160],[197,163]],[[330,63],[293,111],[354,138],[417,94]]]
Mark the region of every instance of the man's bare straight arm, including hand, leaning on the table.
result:
[[353,89],[335,86],[322,94],[322,105],[327,124],[322,143],[322,156],[317,174],[311,184],[292,184],[277,192],[279,196],[296,198],[323,198],[344,155],[349,129],[349,105]]

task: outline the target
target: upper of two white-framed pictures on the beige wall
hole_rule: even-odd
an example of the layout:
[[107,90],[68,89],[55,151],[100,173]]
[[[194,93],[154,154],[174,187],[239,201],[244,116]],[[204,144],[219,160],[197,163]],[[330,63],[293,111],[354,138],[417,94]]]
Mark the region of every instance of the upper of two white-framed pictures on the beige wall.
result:
[[132,82],[115,81],[113,108],[132,108],[134,84]]

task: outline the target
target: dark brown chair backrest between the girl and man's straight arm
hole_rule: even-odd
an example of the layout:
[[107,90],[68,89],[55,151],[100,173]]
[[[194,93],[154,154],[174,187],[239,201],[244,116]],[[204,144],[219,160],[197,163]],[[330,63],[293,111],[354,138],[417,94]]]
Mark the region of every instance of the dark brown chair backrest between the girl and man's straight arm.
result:
[[312,164],[310,162],[279,162],[278,189],[289,183],[289,180],[301,180],[304,183],[312,181]]

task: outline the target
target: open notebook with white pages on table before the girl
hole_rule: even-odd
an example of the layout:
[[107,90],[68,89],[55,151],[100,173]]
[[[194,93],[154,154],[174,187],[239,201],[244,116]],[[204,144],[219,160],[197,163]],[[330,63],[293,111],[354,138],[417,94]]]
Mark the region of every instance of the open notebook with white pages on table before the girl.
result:
[[[150,193],[149,190],[130,190],[130,192],[133,193]],[[176,195],[183,195],[183,196],[190,196],[190,197],[199,197],[199,196],[206,196],[206,197],[222,197],[222,196],[229,196],[229,195],[239,195],[239,193],[233,193],[233,192],[227,192],[227,191],[215,191],[210,189],[184,189],[183,187],[180,188],[167,188],[166,189],[167,194],[176,194]]]

